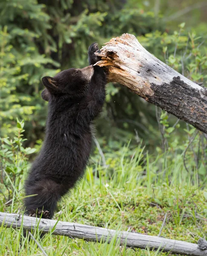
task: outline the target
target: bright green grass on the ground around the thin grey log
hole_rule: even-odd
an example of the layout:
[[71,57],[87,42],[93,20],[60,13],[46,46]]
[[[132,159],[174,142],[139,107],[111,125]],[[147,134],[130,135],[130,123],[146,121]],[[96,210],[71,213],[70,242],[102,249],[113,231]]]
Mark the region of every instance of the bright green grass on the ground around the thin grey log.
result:
[[[157,236],[167,213],[161,233],[164,238],[193,243],[206,238],[206,179],[201,179],[196,171],[190,174],[186,171],[183,153],[156,154],[148,155],[141,145],[133,150],[126,146],[106,154],[106,168],[101,166],[98,153],[95,154],[84,179],[70,197],[58,204],[54,218]],[[17,212],[22,207],[25,177],[26,173],[23,178],[16,178],[18,189],[9,207],[0,195],[1,212]],[[3,186],[1,189],[6,194]],[[126,248],[115,239],[107,244],[47,234],[40,240],[37,230],[32,233],[47,255],[170,255],[147,248]],[[21,238],[24,247],[20,246]],[[34,241],[23,238],[22,229],[1,227],[0,255],[37,256],[43,253]]]

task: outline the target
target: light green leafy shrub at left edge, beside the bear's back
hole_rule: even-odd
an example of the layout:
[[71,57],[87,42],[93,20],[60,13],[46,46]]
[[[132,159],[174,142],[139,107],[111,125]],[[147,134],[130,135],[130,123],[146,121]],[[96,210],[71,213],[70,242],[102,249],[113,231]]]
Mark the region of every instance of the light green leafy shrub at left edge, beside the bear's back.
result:
[[17,128],[14,138],[0,138],[0,188],[6,201],[10,201],[16,194],[19,196],[22,189],[23,173],[28,171],[29,161],[27,155],[36,151],[35,148],[24,148],[23,130],[24,122],[17,119]]

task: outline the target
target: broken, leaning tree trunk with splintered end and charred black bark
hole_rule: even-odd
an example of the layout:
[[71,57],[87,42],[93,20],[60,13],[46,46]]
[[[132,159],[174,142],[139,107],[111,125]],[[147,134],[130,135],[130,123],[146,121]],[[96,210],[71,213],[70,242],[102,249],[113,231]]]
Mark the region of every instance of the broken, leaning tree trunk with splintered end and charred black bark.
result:
[[107,69],[108,81],[129,87],[147,102],[207,133],[207,89],[155,58],[134,35],[112,38],[96,54],[102,61],[95,65]]

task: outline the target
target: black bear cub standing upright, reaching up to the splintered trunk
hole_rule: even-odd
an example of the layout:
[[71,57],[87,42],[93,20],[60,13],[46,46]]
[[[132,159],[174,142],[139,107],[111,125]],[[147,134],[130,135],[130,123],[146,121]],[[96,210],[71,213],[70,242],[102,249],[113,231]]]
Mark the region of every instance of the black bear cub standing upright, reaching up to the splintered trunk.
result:
[[89,65],[43,77],[49,101],[46,138],[25,183],[26,213],[52,218],[58,200],[83,176],[92,147],[92,123],[105,100],[106,75],[89,47]]

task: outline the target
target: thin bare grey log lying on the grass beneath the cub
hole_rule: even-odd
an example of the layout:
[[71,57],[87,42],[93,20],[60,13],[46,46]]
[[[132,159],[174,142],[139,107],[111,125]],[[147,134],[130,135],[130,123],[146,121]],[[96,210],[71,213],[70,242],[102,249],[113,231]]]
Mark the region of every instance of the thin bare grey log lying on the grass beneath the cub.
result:
[[[23,225],[22,225],[23,222]],[[207,256],[207,244],[201,239],[197,244],[184,241],[161,238],[158,236],[147,236],[139,233],[130,233],[126,231],[110,230],[102,227],[93,227],[78,223],[55,221],[49,219],[39,219],[25,215],[0,212],[0,224],[5,227],[20,228],[24,230],[34,230],[38,227],[43,233],[53,230],[54,235],[69,236],[90,241],[110,242],[115,236],[120,244],[126,244],[128,247],[137,247],[151,250],[158,249],[163,252],[178,253],[180,255]],[[201,249],[203,250],[201,250]]]

